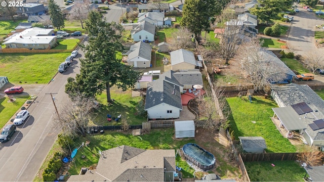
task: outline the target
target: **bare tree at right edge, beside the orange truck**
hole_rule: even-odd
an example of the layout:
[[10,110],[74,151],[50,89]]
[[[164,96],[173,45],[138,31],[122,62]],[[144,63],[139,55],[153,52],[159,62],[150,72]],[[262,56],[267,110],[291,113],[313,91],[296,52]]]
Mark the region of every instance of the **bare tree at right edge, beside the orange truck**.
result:
[[306,56],[305,64],[313,73],[315,73],[315,70],[318,68],[324,68],[323,52],[320,50],[311,51]]

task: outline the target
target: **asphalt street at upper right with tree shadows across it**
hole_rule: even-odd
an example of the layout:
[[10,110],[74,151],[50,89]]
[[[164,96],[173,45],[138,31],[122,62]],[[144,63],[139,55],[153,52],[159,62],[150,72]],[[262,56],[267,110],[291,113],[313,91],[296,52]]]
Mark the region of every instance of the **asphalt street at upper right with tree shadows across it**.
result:
[[324,20],[302,7],[298,9],[300,12],[294,15],[287,43],[296,54],[306,56],[310,51],[317,49],[314,44],[315,26],[324,24]]

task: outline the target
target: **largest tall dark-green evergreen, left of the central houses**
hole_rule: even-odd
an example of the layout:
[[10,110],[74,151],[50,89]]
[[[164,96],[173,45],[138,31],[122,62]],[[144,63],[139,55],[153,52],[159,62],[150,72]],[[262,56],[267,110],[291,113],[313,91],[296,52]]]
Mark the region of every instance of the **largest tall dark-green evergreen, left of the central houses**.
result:
[[134,71],[132,66],[125,65],[116,59],[116,52],[124,50],[119,42],[124,28],[115,22],[106,23],[99,12],[92,11],[85,21],[89,34],[89,43],[82,45],[86,50],[85,59],[80,59],[80,74],[68,79],[65,92],[73,96],[74,92],[95,96],[105,89],[107,102],[111,101],[110,87],[116,85],[126,90],[134,87],[140,79],[140,72]]

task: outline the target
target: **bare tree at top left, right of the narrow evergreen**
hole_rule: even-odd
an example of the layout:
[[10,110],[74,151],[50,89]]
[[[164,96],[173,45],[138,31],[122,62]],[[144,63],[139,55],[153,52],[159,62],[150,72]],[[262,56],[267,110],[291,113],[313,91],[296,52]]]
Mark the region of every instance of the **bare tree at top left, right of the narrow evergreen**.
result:
[[84,3],[75,3],[67,17],[69,21],[78,21],[81,23],[82,29],[84,29],[84,21],[88,18],[90,12],[90,1],[84,1]]

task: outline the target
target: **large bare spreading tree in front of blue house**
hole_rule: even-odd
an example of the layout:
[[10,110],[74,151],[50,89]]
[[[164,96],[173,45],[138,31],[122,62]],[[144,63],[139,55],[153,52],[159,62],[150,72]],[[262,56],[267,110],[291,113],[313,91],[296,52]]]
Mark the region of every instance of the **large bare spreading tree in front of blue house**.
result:
[[242,44],[237,54],[246,79],[253,83],[255,90],[268,92],[271,82],[283,81],[287,70],[272,52],[261,47],[259,39]]

